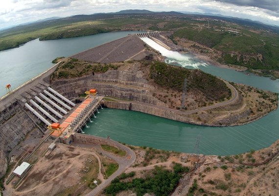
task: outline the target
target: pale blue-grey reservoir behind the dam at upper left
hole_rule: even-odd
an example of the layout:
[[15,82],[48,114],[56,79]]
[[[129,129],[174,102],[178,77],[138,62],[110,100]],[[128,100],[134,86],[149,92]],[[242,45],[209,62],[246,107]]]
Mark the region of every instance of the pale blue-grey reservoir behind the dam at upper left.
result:
[[53,66],[51,61],[56,57],[71,56],[138,32],[141,31],[110,32],[47,41],[36,39],[20,48],[0,51],[0,97],[6,94],[6,84],[11,84],[12,89],[15,89]]

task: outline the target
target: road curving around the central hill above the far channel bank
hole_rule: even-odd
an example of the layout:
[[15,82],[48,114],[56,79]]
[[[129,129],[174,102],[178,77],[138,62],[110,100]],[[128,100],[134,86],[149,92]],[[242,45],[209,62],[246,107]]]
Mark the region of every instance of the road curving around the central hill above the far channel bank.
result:
[[205,111],[205,110],[209,110],[209,109],[213,109],[213,108],[228,105],[228,104],[232,103],[234,100],[236,100],[236,98],[238,98],[237,90],[229,82],[227,82],[227,81],[224,81],[224,82],[232,90],[232,98],[230,100],[220,102],[220,103],[217,103],[217,104],[214,104],[214,105],[202,107],[202,108],[195,109],[195,110],[189,110],[189,111],[175,110],[175,109],[171,109],[171,108],[168,108],[168,107],[158,106],[158,105],[154,105],[154,104],[150,104],[150,103],[144,103],[144,102],[140,102],[140,101],[122,100],[122,99],[116,99],[116,98],[111,98],[111,97],[110,97],[110,99],[116,100],[117,102],[128,102],[128,103],[138,103],[138,104],[140,103],[141,105],[156,107],[156,108],[159,108],[159,109],[162,109],[162,110],[168,110],[168,111],[172,111],[172,112],[175,112],[175,113],[178,113],[178,114],[193,114],[193,113],[196,113],[196,112]]

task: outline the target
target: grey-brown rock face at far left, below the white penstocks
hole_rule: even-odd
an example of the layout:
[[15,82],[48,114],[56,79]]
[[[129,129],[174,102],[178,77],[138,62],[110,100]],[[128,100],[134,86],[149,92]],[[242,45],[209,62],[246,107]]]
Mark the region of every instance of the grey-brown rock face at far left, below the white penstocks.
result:
[[[34,120],[37,121],[37,119]],[[26,134],[34,128],[36,128],[36,124],[33,123],[28,115],[22,110],[1,125],[0,177],[2,177],[7,170],[7,155],[9,151],[16,147],[19,142],[23,141]]]

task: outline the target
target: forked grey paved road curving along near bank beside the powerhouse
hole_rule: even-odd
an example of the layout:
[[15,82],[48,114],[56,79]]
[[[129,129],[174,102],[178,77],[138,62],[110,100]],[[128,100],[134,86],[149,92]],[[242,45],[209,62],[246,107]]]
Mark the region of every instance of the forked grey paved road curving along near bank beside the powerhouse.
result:
[[111,158],[111,159],[115,160],[119,165],[119,168],[116,172],[114,172],[108,179],[103,181],[99,186],[97,186],[95,189],[93,189],[86,196],[96,196],[96,195],[100,194],[104,190],[104,188],[107,187],[111,183],[111,181],[113,179],[115,179],[121,173],[125,172],[125,170],[127,168],[129,168],[134,163],[134,161],[136,160],[136,154],[133,150],[131,150],[129,147],[121,145],[118,142],[115,142],[115,141],[112,141],[112,142],[114,142],[115,144],[117,143],[117,147],[120,147],[122,150],[125,150],[127,152],[125,157],[119,157],[119,156],[116,156],[116,155],[114,155],[110,152],[107,152],[107,151],[103,150],[100,147],[100,145],[79,144],[79,143],[74,143],[73,144],[73,146],[79,146],[79,147],[86,147],[86,148],[94,147],[94,148],[96,148],[97,152],[101,152],[103,155],[107,156],[108,158]]

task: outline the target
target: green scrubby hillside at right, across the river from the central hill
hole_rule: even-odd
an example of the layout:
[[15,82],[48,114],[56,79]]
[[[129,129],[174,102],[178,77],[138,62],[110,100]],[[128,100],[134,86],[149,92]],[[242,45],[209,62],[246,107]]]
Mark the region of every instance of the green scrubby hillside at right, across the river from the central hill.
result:
[[[247,28],[247,27],[246,27]],[[253,32],[249,28],[237,26],[237,33],[223,30],[221,26],[199,30],[188,27],[174,33],[174,37],[186,38],[216,49],[221,63],[245,66],[251,69],[279,70],[279,36],[264,30]]]

